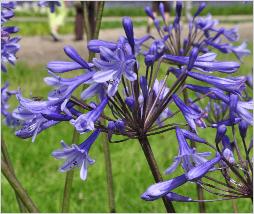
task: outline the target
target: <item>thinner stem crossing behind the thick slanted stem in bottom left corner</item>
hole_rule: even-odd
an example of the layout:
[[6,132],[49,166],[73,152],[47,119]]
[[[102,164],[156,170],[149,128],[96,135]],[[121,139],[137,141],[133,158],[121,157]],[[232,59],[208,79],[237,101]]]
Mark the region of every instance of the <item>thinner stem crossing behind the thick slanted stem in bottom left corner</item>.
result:
[[[7,164],[9,169],[11,170],[11,172],[13,174],[15,174],[3,137],[1,137],[1,151],[2,151],[2,155],[3,155],[3,160],[5,161],[5,163]],[[26,213],[27,209],[26,209],[25,205],[22,203],[21,199],[19,198],[18,193],[15,190],[14,190],[14,192],[15,192],[15,195],[16,195],[16,200],[17,200],[20,212],[21,213]]]

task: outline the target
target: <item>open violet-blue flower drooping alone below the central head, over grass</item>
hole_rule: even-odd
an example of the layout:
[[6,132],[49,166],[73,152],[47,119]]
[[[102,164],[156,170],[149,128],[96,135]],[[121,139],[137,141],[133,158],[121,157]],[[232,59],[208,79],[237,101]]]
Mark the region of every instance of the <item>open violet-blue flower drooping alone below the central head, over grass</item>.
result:
[[52,152],[56,159],[66,159],[65,163],[60,167],[60,172],[66,172],[74,167],[80,167],[80,178],[86,180],[87,167],[95,161],[88,155],[89,150],[95,140],[98,138],[100,130],[95,130],[83,143],[71,146],[61,141],[62,149]]

